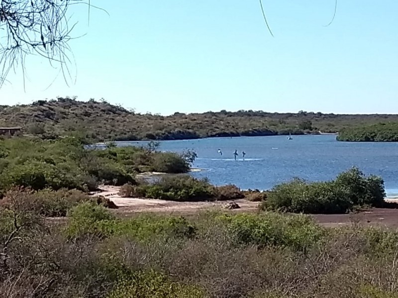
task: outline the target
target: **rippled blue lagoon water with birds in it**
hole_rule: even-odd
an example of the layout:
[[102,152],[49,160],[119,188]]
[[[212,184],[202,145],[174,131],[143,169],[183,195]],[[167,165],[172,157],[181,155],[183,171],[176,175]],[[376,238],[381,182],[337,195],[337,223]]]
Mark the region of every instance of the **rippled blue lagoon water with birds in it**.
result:
[[[181,152],[194,149],[198,158],[195,177],[208,177],[215,185],[235,184],[242,189],[270,189],[300,177],[309,181],[333,179],[358,166],[366,174],[383,177],[388,196],[398,196],[398,144],[337,142],[334,135],[211,138],[163,141],[160,149]],[[119,142],[119,146],[147,142]],[[221,149],[221,156],[217,149]],[[233,152],[238,150],[238,160]],[[242,150],[246,152],[242,159]]]

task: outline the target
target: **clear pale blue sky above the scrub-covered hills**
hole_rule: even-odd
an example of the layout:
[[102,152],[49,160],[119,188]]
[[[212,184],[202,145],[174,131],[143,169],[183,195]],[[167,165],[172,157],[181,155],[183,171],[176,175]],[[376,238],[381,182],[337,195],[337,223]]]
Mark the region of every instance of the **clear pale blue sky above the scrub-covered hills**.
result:
[[[137,112],[398,113],[398,1],[91,0],[75,6],[76,83],[30,57],[0,104],[104,98]],[[72,11],[71,11],[72,12]],[[48,88],[47,88],[48,87]]]

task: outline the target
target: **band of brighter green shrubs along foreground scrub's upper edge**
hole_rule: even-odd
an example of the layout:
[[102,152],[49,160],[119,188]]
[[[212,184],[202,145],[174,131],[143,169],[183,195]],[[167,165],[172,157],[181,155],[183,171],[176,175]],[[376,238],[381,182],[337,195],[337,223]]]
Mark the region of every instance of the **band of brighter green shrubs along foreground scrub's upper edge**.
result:
[[94,234],[109,237],[123,235],[139,241],[148,241],[154,235],[160,237],[193,238],[199,227],[225,227],[233,241],[244,245],[279,246],[294,250],[306,250],[325,236],[311,218],[285,216],[276,213],[208,214],[205,224],[195,225],[184,217],[141,215],[128,220],[116,220],[108,211],[90,203],[74,207],[70,211],[68,234],[81,236]]

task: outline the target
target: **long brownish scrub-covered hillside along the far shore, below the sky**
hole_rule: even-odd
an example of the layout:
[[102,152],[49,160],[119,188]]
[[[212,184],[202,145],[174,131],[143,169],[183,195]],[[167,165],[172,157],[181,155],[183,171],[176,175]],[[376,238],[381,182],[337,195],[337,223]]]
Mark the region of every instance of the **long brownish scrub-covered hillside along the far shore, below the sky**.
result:
[[[178,110],[178,107],[176,107]],[[103,140],[178,140],[204,137],[335,133],[357,125],[397,121],[398,115],[335,115],[263,111],[138,114],[106,101],[74,98],[0,106],[0,126],[22,126],[24,134],[45,138],[84,131]]]

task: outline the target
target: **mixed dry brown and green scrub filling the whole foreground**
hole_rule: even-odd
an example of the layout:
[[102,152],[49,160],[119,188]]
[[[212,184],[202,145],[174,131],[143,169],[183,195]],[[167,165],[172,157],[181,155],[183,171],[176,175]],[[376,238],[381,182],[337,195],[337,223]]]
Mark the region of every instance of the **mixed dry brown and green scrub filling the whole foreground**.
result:
[[[0,297],[393,298],[398,233],[308,216],[116,219],[88,202],[49,226],[0,208]],[[15,221],[15,219],[17,219]],[[67,233],[65,233],[67,232]]]

